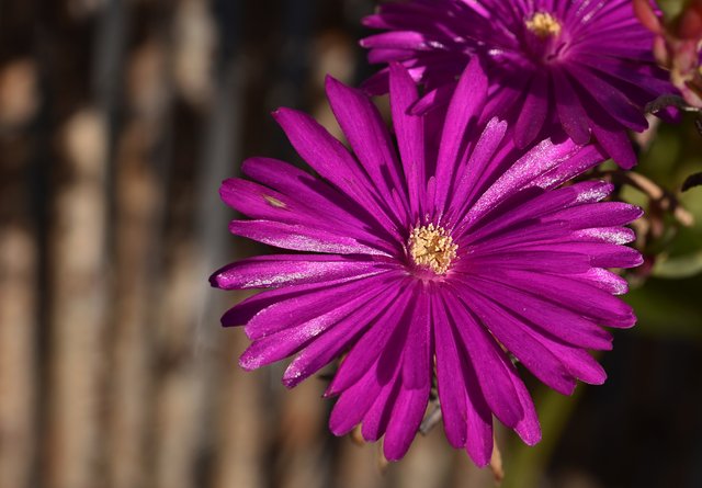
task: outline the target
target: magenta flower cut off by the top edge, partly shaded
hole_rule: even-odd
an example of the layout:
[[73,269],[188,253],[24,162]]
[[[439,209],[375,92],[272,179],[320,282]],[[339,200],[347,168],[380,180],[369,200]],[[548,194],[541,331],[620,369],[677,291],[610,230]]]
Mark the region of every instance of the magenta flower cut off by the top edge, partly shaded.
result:
[[[388,31],[361,41],[370,61],[403,63],[429,90],[415,110],[441,105],[468,60],[484,57],[486,115],[514,125],[518,147],[562,126],[578,144],[593,135],[631,168],[636,157],[626,130],[644,130],[645,105],[676,93],[631,0],[410,0],[384,3],[364,23]],[[385,92],[387,72],[367,90]]]

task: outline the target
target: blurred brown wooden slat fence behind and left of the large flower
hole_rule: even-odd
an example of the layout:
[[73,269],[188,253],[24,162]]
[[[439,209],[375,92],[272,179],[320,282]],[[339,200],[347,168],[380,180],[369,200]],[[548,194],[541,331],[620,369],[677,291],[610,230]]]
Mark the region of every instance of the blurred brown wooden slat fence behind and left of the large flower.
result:
[[218,317],[241,296],[207,283],[256,250],[219,182],[292,157],[275,106],[331,122],[324,75],[360,76],[372,9],[0,2],[0,487],[489,483],[440,429],[381,475],[376,446],[327,432],[321,381],[238,368]]

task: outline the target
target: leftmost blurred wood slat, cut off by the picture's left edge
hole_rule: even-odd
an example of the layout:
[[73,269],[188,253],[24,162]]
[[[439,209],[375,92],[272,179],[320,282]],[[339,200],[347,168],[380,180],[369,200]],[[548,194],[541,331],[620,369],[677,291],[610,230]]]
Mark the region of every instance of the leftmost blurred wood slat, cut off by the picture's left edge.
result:
[[39,250],[32,130],[41,105],[36,5],[0,7],[0,487],[29,488],[37,453]]

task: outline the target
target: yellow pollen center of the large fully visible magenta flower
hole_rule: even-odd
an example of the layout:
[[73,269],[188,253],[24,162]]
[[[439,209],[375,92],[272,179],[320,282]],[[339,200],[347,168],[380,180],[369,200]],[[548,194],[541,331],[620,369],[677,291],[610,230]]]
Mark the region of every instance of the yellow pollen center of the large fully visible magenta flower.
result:
[[409,253],[419,266],[431,269],[437,274],[445,274],[451,260],[456,257],[458,246],[442,227],[416,227],[409,236]]

